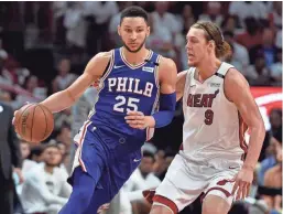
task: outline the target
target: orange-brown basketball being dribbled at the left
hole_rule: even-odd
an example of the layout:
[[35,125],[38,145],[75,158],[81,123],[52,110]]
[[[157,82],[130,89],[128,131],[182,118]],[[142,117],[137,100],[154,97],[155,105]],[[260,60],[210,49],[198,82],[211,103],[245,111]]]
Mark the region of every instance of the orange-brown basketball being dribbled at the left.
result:
[[15,114],[15,131],[29,142],[45,140],[54,128],[53,114],[43,105],[29,104]]

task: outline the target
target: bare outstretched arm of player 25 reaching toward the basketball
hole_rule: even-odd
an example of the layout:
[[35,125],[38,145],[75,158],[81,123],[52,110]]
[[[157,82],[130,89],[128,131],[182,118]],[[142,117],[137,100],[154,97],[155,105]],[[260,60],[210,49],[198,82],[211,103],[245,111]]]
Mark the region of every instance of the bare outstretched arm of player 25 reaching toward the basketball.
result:
[[51,95],[41,104],[52,113],[58,113],[70,107],[94,82],[101,77],[110,57],[111,52],[98,53],[88,62],[84,74],[68,88]]

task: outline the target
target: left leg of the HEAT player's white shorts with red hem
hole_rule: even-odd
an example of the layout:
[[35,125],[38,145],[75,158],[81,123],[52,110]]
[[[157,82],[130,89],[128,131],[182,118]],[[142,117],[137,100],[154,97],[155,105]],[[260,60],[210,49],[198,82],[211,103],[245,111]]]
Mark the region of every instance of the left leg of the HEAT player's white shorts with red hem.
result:
[[176,154],[165,179],[155,190],[153,205],[163,205],[172,213],[178,213],[202,194],[207,182],[192,174],[186,164],[184,158]]

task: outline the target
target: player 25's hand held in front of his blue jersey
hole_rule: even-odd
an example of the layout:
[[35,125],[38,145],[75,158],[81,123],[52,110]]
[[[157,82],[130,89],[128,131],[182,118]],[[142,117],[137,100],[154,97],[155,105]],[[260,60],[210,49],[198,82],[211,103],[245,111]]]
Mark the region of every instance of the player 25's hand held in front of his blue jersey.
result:
[[124,119],[130,127],[135,129],[151,127],[151,116],[144,116],[141,111],[128,111]]

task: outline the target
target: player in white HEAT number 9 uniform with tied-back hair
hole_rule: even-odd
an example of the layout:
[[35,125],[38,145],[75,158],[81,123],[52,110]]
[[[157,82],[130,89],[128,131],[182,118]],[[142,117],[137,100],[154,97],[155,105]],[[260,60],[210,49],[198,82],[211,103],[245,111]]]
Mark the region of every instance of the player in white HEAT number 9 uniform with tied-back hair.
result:
[[227,214],[233,200],[249,193],[264,125],[244,77],[220,61],[229,52],[220,30],[197,22],[186,40],[191,68],[179,73],[176,90],[177,99],[183,97],[183,145],[150,214],[178,213],[202,193],[203,214]]

